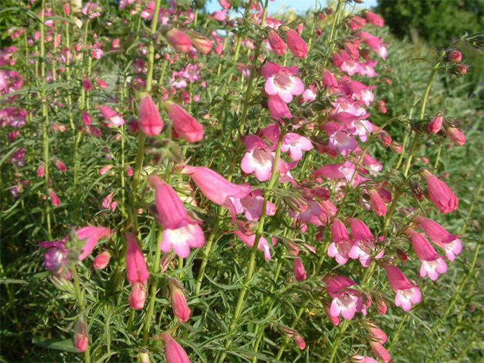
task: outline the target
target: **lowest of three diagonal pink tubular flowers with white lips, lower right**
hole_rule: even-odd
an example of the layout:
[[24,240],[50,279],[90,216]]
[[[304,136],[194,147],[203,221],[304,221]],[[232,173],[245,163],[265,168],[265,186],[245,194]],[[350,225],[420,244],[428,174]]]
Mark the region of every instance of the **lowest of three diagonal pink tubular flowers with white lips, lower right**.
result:
[[409,311],[412,304],[418,304],[422,299],[420,288],[413,286],[402,271],[396,266],[384,265],[387,278],[395,295],[395,305]]

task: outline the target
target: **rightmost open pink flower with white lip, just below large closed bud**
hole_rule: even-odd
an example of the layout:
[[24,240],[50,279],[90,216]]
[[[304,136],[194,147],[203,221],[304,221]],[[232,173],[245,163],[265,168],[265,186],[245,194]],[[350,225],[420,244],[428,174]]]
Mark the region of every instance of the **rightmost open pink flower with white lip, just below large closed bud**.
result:
[[432,242],[445,250],[445,256],[450,261],[454,261],[456,259],[456,254],[460,254],[462,251],[460,239],[454,234],[447,232],[437,222],[422,216],[413,217],[413,221],[416,221],[420,225],[420,228],[425,231]]

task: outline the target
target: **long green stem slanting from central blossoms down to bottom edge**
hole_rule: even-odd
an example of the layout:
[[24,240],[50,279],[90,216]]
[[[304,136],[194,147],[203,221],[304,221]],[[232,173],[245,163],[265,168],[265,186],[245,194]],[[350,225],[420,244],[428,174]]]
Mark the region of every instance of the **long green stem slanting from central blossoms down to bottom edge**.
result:
[[[259,241],[261,240],[261,236],[263,233],[263,228],[264,228],[264,221],[266,221],[266,207],[267,203],[269,200],[270,192],[272,187],[274,187],[274,184],[277,180],[278,173],[277,173],[277,166],[279,165],[279,158],[281,157],[281,146],[282,146],[282,140],[283,140],[284,133],[281,130],[281,135],[279,136],[279,142],[277,142],[277,149],[276,149],[276,155],[274,156],[274,164],[272,165],[272,174],[270,176],[270,180],[267,186],[266,191],[264,192],[264,198],[262,202],[262,211],[261,211],[261,217],[259,218],[259,223],[257,224],[257,230],[255,234],[255,239],[254,239],[254,245],[252,245],[252,248],[250,250],[250,255],[249,255],[249,262],[248,262],[248,271],[247,274],[245,275],[245,279],[243,281],[243,286],[239,292],[239,298],[237,299],[237,304],[235,306],[234,310],[234,315],[232,316],[232,322],[230,323],[229,327],[229,334],[227,337],[227,342],[225,342],[225,350],[227,351],[230,348],[230,344],[232,344],[232,333],[234,333],[234,328],[236,326],[237,319],[239,319],[239,315],[242,310],[243,302],[245,299],[245,294],[248,290],[248,287],[250,285],[250,282],[252,281],[252,277],[254,275],[254,267],[255,267],[255,257],[257,253],[257,248],[259,247]],[[227,352],[223,352],[220,359],[218,360],[219,363],[223,362],[225,360],[225,357],[227,356]]]

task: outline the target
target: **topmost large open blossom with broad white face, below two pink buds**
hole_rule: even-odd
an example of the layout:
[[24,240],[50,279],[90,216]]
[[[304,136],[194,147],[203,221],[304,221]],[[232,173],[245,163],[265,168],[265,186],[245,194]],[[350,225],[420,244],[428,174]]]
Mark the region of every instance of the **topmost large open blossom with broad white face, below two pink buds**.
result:
[[283,102],[291,102],[293,95],[304,93],[304,83],[295,77],[297,67],[283,67],[277,63],[268,62],[261,67],[261,73],[266,78],[264,90],[268,95],[279,95]]

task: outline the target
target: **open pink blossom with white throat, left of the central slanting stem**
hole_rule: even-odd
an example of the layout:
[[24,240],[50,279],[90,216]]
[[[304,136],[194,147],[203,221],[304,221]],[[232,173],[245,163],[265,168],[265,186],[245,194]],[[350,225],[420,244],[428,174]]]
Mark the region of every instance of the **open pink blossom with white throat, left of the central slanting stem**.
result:
[[275,153],[259,136],[246,136],[244,142],[247,151],[242,158],[242,171],[246,174],[254,173],[259,181],[269,180]]

